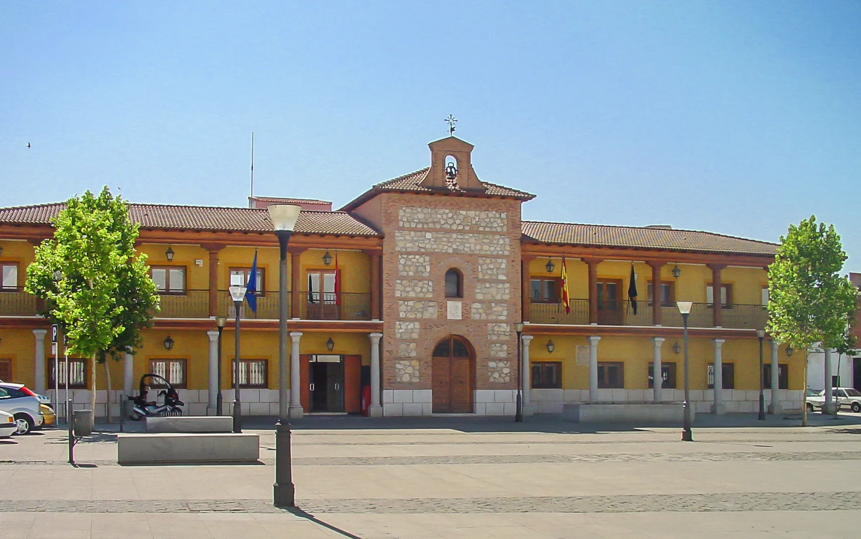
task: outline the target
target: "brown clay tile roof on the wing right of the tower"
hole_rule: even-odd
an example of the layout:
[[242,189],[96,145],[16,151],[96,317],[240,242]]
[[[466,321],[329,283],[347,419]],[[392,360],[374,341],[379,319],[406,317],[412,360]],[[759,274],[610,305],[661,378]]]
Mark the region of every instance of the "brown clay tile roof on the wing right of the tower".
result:
[[577,225],[541,221],[523,221],[522,229],[523,241],[544,244],[732,252],[770,256],[777,252],[777,244],[694,230],[640,226]]

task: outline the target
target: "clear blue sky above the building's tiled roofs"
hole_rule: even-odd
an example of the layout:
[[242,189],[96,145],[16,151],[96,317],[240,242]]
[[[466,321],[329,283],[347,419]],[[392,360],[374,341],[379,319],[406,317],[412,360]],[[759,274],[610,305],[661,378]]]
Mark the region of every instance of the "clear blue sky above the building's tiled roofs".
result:
[[[861,270],[861,2],[0,3],[0,206],[336,208],[459,119],[531,220],[777,241]],[[29,143],[32,148],[25,146]]]

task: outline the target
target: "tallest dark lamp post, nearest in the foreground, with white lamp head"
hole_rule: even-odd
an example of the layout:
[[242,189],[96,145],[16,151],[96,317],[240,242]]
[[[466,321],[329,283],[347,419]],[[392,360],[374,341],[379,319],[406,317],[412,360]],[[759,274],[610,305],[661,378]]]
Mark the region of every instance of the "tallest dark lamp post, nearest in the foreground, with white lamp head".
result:
[[296,489],[291,468],[290,401],[287,398],[287,245],[290,236],[293,235],[301,208],[294,204],[270,204],[268,208],[280,251],[278,259],[278,423],[275,426],[275,484],[272,486],[272,503],[276,507],[293,507]]

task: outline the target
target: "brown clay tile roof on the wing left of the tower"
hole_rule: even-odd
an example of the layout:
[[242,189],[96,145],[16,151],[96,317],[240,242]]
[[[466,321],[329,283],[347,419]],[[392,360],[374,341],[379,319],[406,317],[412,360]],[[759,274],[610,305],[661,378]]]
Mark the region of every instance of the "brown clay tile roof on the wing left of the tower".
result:
[[[64,207],[65,204],[59,202],[0,208],[0,222],[50,224],[54,215]],[[272,232],[269,212],[265,209],[130,204],[128,213],[133,220],[145,228]],[[299,214],[295,232],[348,236],[380,235],[380,232],[373,227],[346,212],[308,210],[302,210]]]

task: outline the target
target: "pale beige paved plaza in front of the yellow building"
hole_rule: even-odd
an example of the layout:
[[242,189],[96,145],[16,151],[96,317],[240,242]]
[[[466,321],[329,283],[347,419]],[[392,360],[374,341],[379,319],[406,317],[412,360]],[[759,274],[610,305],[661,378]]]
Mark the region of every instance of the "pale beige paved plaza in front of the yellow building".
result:
[[861,417],[811,418],[701,415],[694,443],[671,425],[306,418],[295,511],[270,503],[270,420],[246,428],[257,465],[118,466],[102,425],[72,468],[46,430],[0,440],[0,537],[858,536]]

